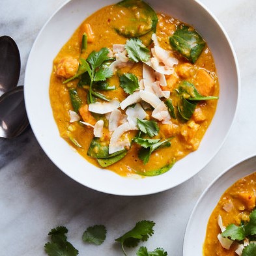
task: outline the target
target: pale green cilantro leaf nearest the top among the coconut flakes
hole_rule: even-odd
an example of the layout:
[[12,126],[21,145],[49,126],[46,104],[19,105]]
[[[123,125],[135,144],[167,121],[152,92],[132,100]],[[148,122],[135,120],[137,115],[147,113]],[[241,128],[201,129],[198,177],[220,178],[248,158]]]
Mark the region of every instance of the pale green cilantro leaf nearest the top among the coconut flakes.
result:
[[149,49],[138,38],[130,38],[124,46],[129,58],[135,63],[139,61],[146,62],[149,60]]

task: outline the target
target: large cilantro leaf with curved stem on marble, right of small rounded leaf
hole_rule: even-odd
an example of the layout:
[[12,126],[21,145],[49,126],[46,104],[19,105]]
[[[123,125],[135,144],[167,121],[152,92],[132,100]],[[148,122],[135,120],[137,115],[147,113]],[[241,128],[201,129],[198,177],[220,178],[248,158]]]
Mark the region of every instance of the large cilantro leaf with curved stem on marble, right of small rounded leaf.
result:
[[135,224],[135,227],[133,229],[120,236],[119,238],[115,239],[116,242],[121,243],[124,255],[126,255],[126,252],[124,251],[124,246],[135,247],[137,246],[137,244],[139,244],[139,242],[147,241],[149,236],[152,236],[154,234],[154,225],[154,221],[139,221]]

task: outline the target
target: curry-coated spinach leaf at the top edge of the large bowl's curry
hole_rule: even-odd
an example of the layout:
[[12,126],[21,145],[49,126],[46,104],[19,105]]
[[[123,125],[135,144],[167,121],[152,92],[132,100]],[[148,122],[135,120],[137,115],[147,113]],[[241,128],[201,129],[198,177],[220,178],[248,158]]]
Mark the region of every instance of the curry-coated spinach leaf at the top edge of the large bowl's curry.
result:
[[[124,0],[117,3],[115,8],[127,13],[127,15],[122,16],[122,22],[117,18],[117,22],[114,24],[115,31],[120,35],[130,38],[150,34],[148,37],[151,38],[152,33],[156,31],[158,17],[156,12],[144,1]],[[127,25],[124,26],[123,24]]]

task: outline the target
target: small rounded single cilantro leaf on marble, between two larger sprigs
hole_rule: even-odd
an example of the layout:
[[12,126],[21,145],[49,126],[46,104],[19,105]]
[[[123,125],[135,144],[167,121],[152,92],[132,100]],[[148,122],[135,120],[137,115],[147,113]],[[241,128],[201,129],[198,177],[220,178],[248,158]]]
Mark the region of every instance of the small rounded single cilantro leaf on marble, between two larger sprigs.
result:
[[104,225],[94,225],[93,227],[88,227],[83,233],[83,241],[100,245],[106,239],[106,227]]

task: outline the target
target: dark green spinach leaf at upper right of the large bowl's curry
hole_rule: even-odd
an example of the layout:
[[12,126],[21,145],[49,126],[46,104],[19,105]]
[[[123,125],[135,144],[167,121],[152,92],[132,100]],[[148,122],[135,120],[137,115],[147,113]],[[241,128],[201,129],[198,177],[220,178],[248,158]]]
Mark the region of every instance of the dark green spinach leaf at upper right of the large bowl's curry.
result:
[[173,36],[170,36],[169,41],[173,49],[181,53],[191,63],[197,61],[205,48],[202,36],[195,30],[191,31],[185,25],[180,25]]

